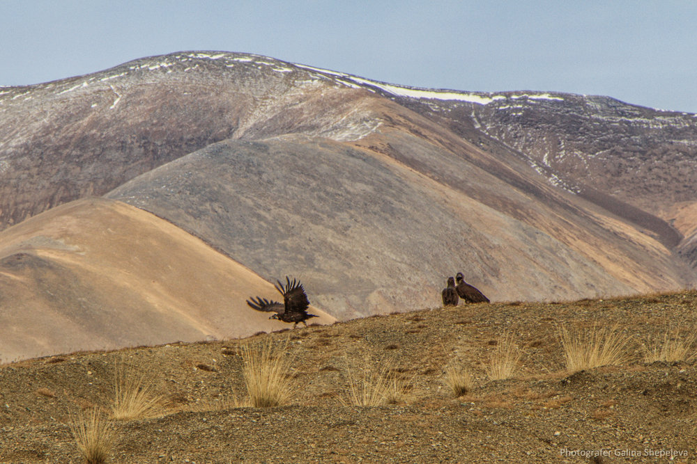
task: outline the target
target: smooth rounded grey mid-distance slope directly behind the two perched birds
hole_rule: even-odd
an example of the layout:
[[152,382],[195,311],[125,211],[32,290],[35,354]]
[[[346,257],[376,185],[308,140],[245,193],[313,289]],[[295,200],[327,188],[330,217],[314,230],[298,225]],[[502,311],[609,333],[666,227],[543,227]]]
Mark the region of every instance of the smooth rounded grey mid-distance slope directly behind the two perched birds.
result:
[[[424,149],[429,159],[447,156]],[[565,243],[545,230],[574,216],[528,205],[528,221],[517,219],[506,209],[522,209],[529,197],[469,163],[449,161],[461,168],[456,178],[490,182],[487,192],[505,198],[504,207],[392,157],[305,136],[217,143],[108,196],[167,218],[261,275],[297,269],[317,304],[341,319],[439,305],[440,277],[457,269],[498,300],[630,293],[652,288],[654,271],[671,272],[659,243],[635,237],[643,248],[627,246],[580,217],[576,227],[585,228],[565,234]],[[621,231],[607,221],[606,235]]]

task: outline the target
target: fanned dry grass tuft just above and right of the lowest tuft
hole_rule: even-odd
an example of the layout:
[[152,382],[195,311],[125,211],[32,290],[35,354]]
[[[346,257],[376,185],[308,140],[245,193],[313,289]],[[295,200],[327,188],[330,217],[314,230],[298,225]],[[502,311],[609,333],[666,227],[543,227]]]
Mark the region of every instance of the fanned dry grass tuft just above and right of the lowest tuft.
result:
[[162,413],[164,395],[159,394],[153,381],[144,374],[116,365],[112,416],[116,420],[141,419]]

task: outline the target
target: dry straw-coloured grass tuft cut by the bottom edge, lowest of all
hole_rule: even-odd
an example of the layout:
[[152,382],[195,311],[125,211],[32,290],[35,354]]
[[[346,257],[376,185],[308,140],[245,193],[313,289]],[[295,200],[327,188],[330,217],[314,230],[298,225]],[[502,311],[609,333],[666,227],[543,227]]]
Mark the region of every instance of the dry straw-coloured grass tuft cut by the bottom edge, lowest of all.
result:
[[98,408],[91,408],[88,412],[81,409],[77,417],[71,413],[70,431],[86,463],[102,464],[107,461],[114,444],[114,424],[102,419]]

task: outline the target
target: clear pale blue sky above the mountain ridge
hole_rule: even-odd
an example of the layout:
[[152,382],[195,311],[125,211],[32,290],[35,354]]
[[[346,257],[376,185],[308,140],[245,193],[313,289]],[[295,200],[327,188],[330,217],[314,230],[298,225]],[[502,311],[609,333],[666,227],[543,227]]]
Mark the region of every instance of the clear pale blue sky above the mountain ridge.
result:
[[0,0],[0,85],[239,51],[424,88],[697,113],[693,0]]

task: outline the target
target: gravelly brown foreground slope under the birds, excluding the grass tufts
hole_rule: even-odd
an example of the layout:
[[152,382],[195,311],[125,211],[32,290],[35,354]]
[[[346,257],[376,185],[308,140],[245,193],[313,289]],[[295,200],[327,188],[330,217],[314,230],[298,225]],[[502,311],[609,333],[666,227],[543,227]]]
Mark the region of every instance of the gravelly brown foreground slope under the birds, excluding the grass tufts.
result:
[[[681,337],[672,331],[677,320]],[[125,366],[154,380],[167,401],[155,417],[116,423],[109,462],[688,463],[697,440],[696,346],[691,360],[648,363],[641,345],[689,344],[696,323],[690,291],[467,305],[250,340],[28,360],[0,366],[0,461],[78,462],[69,413],[98,406],[108,417],[114,371]],[[594,324],[619,324],[631,337],[630,358],[570,374],[558,327],[583,332]],[[515,334],[521,364],[512,378],[491,381],[487,367],[504,331]],[[235,407],[233,396],[245,394],[240,346],[267,340],[293,360],[296,395],[288,406]],[[447,390],[448,366],[470,369],[470,392]],[[351,406],[350,378],[360,382],[363,369],[385,369],[402,396]]]

